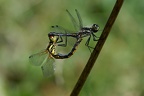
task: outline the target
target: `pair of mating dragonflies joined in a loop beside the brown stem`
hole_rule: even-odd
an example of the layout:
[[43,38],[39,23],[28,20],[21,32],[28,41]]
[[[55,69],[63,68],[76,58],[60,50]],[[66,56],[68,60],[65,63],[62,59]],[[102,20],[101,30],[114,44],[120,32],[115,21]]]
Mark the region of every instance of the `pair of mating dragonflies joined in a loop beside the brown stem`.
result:
[[[66,29],[61,26],[52,26],[52,28],[60,29],[63,32],[50,32],[48,34],[49,37],[49,44],[47,48],[39,53],[33,54],[29,57],[30,62],[33,65],[41,66],[44,76],[51,76],[55,70],[55,60],[54,59],[65,59],[72,56],[76,50],[76,47],[80,44],[84,37],[88,37],[85,45],[89,48],[89,50],[93,47],[89,46],[90,39],[92,38],[93,41],[98,41],[98,37],[95,35],[96,32],[99,30],[99,26],[97,24],[93,24],[91,27],[83,27],[82,19],[80,14],[77,10],[75,10],[76,15],[78,17],[78,21],[70,14],[68,10],[66,10],[68,15],[71,18],[71,21],[75,27],[76,32],[70,33]],[[62,37],[65,37],[65,42]],[[57,53],[56,46],[67,46],[67,38],[72,37],[76,39],[74,46],[72,47],[71,51],[67,54]],[[64,43],[64,44],[61,44]]]

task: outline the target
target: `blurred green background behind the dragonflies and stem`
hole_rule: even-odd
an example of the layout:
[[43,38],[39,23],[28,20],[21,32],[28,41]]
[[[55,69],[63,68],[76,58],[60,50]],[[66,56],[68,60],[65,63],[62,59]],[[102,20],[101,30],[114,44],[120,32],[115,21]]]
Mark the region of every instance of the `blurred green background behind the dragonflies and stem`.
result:
[[[56,60],[55,75],[43,77],[28,57],[45,49],[51,25],[70,28],[68,9],[84,25],[100,26],[115,0],[0,0],[0,96],[69,96],[90,56],[84,45]],[[79,96],[144,96],[144,1],[125,0]],[[93,43],[95,45],[95,43]]]

